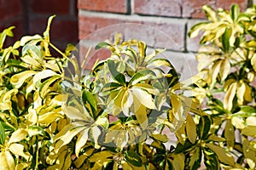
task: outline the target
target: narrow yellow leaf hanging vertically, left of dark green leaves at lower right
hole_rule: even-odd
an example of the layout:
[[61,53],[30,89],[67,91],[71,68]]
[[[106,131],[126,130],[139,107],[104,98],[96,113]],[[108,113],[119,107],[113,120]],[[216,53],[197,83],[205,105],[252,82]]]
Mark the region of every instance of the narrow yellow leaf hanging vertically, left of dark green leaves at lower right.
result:
[[195,140],[196,140],[196,124],[194,122],[193,117],[188,114],[187,116],[187,122],[186,122],[186,131],[187,131],[187,135],[189,138],[189,141],[192,144],[195,144]]

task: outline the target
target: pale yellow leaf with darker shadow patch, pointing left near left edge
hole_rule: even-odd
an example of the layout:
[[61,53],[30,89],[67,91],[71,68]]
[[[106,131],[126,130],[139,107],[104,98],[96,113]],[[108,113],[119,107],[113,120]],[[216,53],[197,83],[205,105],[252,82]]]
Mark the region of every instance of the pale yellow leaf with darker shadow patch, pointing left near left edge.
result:
[[15,88],[20,88],[27,78],[34,76],[37,71],[22,71],[15,74],[10,78],[10,82],[15,86]]

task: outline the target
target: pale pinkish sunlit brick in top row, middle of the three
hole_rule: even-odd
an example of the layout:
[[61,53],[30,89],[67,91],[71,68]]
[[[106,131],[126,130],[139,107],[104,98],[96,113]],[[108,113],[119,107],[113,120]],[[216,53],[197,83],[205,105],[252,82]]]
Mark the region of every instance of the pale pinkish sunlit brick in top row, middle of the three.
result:
[[181,16],[181,4],[179,0],[135,0],[134,13],[158,16]]

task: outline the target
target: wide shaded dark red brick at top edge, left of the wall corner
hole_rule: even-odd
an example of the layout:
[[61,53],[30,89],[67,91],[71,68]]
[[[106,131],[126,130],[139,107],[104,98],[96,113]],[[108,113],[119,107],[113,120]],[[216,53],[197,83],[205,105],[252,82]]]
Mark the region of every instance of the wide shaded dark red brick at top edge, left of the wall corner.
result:
[[30,0],[30,10],[36,14],[69,14],[69,0]]

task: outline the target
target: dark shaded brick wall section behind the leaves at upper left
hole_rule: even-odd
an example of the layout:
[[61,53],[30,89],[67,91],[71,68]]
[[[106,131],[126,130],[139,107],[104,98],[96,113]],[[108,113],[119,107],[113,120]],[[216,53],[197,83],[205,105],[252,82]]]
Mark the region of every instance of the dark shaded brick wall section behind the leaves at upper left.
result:
[[0,30],[15,26],[15,37],[42,34],[50,15],[56,17],[51,26],[51,40],[65,48],[68,42],[78,42],[77,0],[0,0]]

